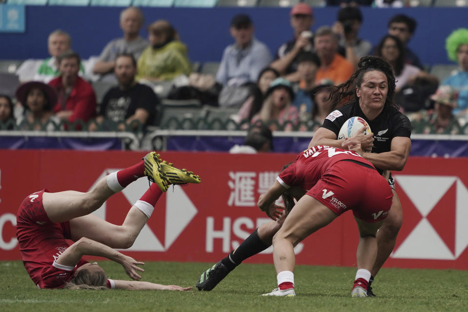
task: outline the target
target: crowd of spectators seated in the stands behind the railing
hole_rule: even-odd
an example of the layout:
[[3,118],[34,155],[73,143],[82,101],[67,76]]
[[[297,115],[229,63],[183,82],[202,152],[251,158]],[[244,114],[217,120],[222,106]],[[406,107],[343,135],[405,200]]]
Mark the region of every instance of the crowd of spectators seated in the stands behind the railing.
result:
[[122,10],[122,37],[103,44],[98,58],[82,61],[70,35],[57,29],[47,41],[50,57],[24,61],[16,71],[21,84],[9,92],[14,98],[0,95],[1,129],[141,132],[168,127],[163,107],[196,103],[224,110],[221,119],[236,129],[264,123],[271,130],[314,131],[340,106],[328,97],[333,86],[350,78],[360,58],[375,55],[393,67],[395,101],[412,121],[413,133],[468,133],[468,29],[454,30],[445,42],[448,58],[459,68],[436,77],[408,47],[416,20],[393,16],[388,33],[372,47],[359,36],[358,4],[370,3],[357,2],[340,2],[336,20],[314,32],[314,12],[299,2],[290,11],[292,39],[274,53],[255,37],[248,15],[235,15],[229,27],[233,43],[212,74],[191,64],[170,21],[151,22],[148,38],[142,38],[145,22],[137,7]]

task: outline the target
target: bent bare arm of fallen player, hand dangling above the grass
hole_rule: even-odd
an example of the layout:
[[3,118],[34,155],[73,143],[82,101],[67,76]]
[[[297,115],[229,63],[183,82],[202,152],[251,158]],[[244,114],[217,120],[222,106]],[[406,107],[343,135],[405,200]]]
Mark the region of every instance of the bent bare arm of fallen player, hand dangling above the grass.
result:
[[67,267],[74,267],[83,255],[95,255],[115,261],[119,263],[124,268],[125,273],[133,279],[141,278],[137,271],[145,272],[145,270],[137,267],[137,265],[143,265],[143,262],[135,261],[132,257],[121,254],[109,246],[86,237],[81,237],[68,247],[59,255],[55,262]]

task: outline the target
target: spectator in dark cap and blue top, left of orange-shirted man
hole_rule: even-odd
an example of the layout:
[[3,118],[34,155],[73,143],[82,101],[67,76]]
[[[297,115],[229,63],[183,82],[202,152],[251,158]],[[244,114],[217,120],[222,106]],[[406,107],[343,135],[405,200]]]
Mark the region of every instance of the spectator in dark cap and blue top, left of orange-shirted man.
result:
[[312,89],[315,88],[315,75],[320,67],[320,59],[310,51],[302,52],[297,57],[297,72],[299,73],[299,83],[293,86],[295,92],[293,105],[299,110],[301,121],[311,119],[313,100]]

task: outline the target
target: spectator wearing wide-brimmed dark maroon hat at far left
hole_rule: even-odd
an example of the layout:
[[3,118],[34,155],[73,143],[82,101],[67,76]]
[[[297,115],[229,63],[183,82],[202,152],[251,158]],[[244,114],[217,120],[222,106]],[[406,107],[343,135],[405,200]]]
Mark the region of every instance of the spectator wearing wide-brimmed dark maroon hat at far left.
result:
[[52,112],[52,105],[57,103],[57,94],[51,86],[40,81],[23,83],[16,90],[16,98],[24,109],[17,120],[20,129],[54,130],[54,123],[60,123]]

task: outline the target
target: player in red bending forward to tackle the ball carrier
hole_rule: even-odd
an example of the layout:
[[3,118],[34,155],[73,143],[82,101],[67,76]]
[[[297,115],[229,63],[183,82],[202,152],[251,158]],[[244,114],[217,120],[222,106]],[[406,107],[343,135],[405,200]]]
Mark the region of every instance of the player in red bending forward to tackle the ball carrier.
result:
[[[385,178],[360,156],[360,142],[347,139],[343,144],[353,151],[315,146],[299,154],[270,189],[260,195],[258,207],[273,218],[283,209],[274,204],[279,196],[286,192],[297,199],[294,209],[273,236],[278,288],[264,295],[294,296],[294,246],[352,210],[359,228],[359,245],[358,270],[351,296],[367,296],[370,270],[377,256],[375,235],[389,213],[392,193]],[[292,201],[286,200],[286,209],[288,202]]]

